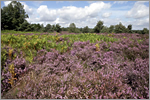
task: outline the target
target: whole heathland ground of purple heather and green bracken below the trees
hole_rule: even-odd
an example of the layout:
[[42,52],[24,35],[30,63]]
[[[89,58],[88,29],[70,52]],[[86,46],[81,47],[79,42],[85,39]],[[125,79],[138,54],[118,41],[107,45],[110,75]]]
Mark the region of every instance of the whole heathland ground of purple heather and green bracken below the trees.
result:
[[9,99],[149,98],[149,35],[2,31]]

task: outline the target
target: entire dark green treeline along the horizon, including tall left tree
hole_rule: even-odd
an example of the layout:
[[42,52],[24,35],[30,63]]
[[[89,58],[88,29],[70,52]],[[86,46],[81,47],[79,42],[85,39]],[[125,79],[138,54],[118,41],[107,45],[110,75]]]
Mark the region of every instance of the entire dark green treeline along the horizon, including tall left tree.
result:
[[31,24],[26,18],[29,18],[29,16],[26,14],[23,5],[20,2],[12,1],[8,6],[1,8],[1,29],[26,32],[69,31],[70,33],[149,33],[147,28],[143,28],[143,30],[132,30],[131,24],[125,27],[121,22],[117,25],[110,25],[110,27],[107,27],[103,25],[103,21],[98,21],[94,28],[89,28],[88,26],[78,28],[74,23],[71,23],[69,27],[65,28],[61,27],[59,24],[47,24],[45,27],[43,24]]

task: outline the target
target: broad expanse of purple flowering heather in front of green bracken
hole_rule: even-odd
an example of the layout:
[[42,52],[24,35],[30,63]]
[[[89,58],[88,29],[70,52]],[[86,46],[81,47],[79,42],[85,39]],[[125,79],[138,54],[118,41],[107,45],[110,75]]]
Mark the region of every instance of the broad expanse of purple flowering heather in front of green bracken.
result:
[[64,53],[42,49],[32,64],[17,57],[11,62],[19,75],[13,88],[8,84],[8,66],[2,71],[2,98],[149,99],[148,39],[137,42],[141,36],[123,36],[131,40],[78,41]]

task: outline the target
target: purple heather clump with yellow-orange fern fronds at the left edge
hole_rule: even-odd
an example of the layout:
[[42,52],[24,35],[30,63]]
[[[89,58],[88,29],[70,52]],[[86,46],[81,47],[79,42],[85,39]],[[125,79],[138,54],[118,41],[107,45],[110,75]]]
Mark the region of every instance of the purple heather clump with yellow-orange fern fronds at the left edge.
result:
[[[12,57],[17,51],[14,50],[12,52]],[[7,55],[8,58],[9,55]],[[16,80],[18,79],[21,74],[27,71],[27,62],[24,58],[19,58],[18,56],[13,59],[6,59],[5,65],[2,66],[3,69],[1,70],[1,93],[3,95],[4,92],[7,92],[12,85],[15,85]],[[12,67],[11,71],[10,68]],[[11,82],[10,82],[11,81]]]

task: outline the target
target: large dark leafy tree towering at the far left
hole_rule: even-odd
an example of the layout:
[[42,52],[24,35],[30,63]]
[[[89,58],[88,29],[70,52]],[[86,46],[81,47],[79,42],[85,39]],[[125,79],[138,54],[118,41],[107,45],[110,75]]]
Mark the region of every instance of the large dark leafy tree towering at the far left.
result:
[[1,8],[1,12],[3,30],[17,30],[20,24],[24,23],[28,18],[23,5],[17,1],[12,1],[8,6]]

